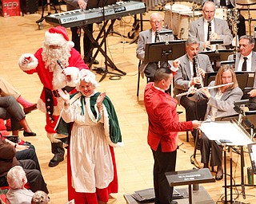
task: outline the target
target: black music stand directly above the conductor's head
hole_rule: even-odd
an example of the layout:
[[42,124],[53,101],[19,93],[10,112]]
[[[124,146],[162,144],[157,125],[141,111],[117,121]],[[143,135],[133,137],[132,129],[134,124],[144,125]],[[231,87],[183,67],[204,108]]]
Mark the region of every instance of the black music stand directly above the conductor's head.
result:
[[162,41],[148,43],[145,47],[145,63],[171,61],[186,53],[186,41]]

